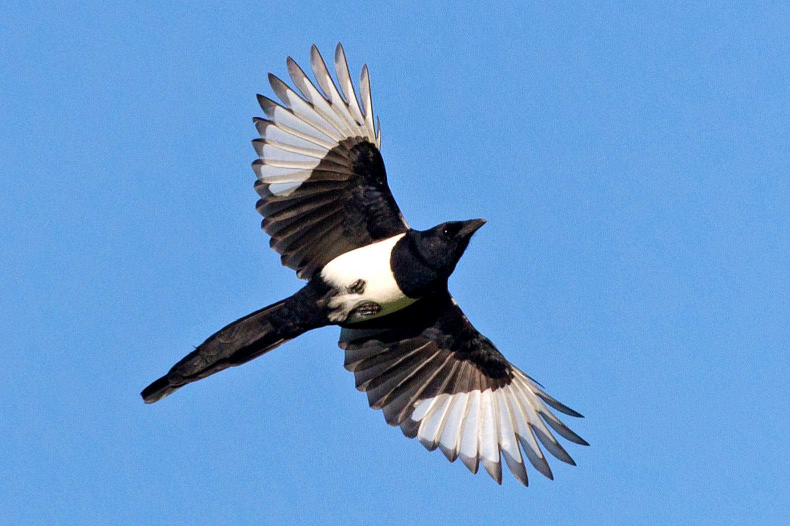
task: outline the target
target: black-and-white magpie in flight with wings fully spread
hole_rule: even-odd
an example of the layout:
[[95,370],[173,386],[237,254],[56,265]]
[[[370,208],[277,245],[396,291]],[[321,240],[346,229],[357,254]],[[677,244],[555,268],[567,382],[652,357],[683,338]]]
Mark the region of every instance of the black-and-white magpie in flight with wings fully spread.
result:
[[581,415],[508,362],[448,291],[469,239],[486,221],[409,227],[387,185],[367,65],[359,100],[339,43],[337,84],[315,46],[315,84],[292,58],[287,65],[299,92],[269,73],[281,103],[258,95],[266,118],[253,119],[260,138],[252,141],[252,167],[261,227],[282,264],[307,285],[209,336],[142,391],[145,403],[311,329],[339,325],[356,388],[408,438],[441,449],[451,462],[461,458],[472,473],[483,464],[500,484],[502,458],[525,486],[524,456],[553,479],[541,444],[575,465],[551,430],[588,443],[551,409]]

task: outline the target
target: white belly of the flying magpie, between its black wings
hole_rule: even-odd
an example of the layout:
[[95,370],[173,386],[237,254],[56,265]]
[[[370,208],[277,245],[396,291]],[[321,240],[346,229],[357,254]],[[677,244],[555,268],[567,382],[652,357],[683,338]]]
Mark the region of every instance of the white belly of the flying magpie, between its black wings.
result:
[[[401,292],[389,268],[389,253],[403,236],[399,234],[340,254],[324,266],[322,280],[338,292],[329,300],[329,306],[334,309],[329,314],[331,321],[353,322],[384,316],[416,301]],[[364,281],[364,290],[359,294],[349,291],[359,280]],[[377,304],[381,310],[370,315],[352,313],[356,307],[367,302]]]

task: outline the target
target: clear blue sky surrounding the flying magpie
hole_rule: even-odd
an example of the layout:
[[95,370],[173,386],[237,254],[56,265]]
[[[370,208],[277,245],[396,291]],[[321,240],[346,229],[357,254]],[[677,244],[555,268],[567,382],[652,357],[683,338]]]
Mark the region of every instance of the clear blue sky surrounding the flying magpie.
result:
[[[6,4],[0,522],[790,524],[790,7],[545,4]],[[300,286],[250,118],[338,40],[412,226],[489,220],[453,294],[587,417],[554,481],[386,426],[336,328],[138,396]]]

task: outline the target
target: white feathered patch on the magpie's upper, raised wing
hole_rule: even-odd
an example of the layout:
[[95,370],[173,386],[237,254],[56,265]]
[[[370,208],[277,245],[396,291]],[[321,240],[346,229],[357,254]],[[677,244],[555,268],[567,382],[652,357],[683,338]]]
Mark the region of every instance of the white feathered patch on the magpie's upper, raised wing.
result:
[[364,137],[381,148],[381,134],[374,126],[367,65],[359,76],[360,106],[340,44],[334,58],[340,91],[318,48],[313,46],[310,66],[321,91],[289,57],[288,74],[299,93],[269,74],[269,83],[282,104],[258,97],[269,120],[255,122],[261,140],[254,141],[259,160],[253,163],[253,169],[262,182],[276,185],[269,188],[276,195],[288,195],[307,181],[310,171],[344,139]]

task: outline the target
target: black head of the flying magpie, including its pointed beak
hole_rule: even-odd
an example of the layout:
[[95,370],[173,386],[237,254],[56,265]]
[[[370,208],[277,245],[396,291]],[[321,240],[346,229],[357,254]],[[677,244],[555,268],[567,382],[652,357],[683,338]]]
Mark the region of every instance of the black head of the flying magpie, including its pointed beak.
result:
[[449,221],[412,233],[420,259],[439,276],[448,277],[464,255],[469,239],[486,220]]

